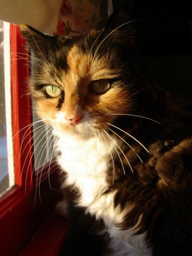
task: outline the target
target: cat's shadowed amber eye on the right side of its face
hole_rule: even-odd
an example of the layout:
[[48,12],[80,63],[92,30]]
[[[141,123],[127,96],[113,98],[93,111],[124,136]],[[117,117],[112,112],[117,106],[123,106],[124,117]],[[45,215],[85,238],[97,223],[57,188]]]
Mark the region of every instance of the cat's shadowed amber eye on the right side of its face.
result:
[[94,81],[90,84],[90,92],[95,94],[103,94],[111,87],[111,83],[108,79],[101,79]]

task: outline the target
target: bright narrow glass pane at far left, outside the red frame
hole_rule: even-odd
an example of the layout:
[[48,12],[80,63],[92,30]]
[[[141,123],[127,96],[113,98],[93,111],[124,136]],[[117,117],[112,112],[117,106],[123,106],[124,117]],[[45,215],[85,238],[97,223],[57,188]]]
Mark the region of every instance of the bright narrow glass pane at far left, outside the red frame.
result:
[[[5,89],[6,88],[6,89]],[[9,24],[0,20],[0,196],[14,184],[12,163]],[[9,106],[9,107],[8,107]],[[7,118],[6,118],[7,117]],[[9,138],[7,137],[9,134]],[[10,143],[7,143],[10,141]],[[9,154],[8,154],[9,152]]]

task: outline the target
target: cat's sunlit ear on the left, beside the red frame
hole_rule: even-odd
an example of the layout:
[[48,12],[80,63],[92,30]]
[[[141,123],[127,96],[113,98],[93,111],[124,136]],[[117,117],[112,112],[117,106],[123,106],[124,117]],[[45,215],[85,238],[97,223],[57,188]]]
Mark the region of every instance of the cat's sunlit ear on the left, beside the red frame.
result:
[[36,56],[46,57],[55,37],[41,33],[27,25],[20,25],[19,27],[29,44],[29,48],[34,51]]

